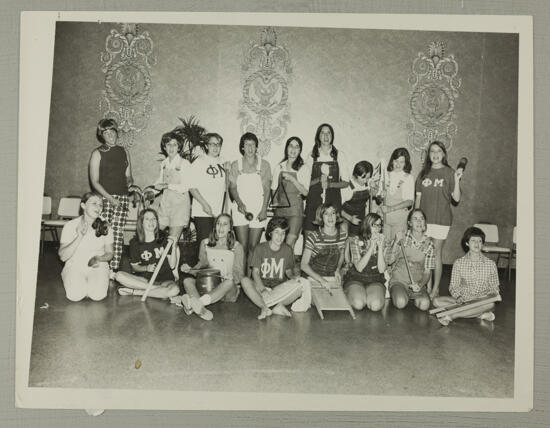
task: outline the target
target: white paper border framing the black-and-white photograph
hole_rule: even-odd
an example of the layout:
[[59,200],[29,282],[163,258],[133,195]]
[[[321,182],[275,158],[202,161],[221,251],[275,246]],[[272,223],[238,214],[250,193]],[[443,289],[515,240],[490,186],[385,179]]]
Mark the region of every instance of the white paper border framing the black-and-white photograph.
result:
[[[229,19],[230,16],[230,19]],[[140,22],[518,33],[517,276],[513,398],[273,394],[29,387],[41,196],[55,26],[58,21]],[[230,24],[228,24],[230,23]],[[22,12],[17,202],[15,402],[26,408],[300,411],[529,411],[534,355],[533,24],[530,16],[328,13]],[[521,150],[520,150],[521,148]]]

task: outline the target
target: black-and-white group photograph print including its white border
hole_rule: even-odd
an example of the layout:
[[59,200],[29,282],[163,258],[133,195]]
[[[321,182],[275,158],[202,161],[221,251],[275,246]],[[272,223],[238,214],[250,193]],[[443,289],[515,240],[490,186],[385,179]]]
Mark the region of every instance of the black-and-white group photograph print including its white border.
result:
[[357,17],[51,24],[24,389],[518,398],[523,27]]

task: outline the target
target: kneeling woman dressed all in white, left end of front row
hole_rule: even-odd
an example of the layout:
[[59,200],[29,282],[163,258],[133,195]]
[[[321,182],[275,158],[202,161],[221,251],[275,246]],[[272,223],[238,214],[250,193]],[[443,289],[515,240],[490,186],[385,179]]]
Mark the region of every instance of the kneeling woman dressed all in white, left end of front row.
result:
[[59,258],[65,262],[61,278],[67,299],[102,300],[109,288],[109,264],[113,258],[113,232],[99,215],[103,199],[86,193],[80,202],[82,215],[70,220],[61,232]]

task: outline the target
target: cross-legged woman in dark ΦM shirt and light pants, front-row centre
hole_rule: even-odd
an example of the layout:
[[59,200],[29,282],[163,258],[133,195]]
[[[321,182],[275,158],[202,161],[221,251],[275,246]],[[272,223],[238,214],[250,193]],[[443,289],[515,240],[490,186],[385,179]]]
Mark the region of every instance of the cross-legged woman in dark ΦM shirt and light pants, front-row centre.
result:
[[295,271],[294,252],[285,243],[288,229],[284,217],[273,217],[269,221],[265,232],[267,242],[258,244],[252,253],[252,278],[242,280],[244,292],[261,309],[258,319],[271,313],[289,317],[291,314],[285,306],[291,303],[294,312],[305,312],[311,306],[310,283]]

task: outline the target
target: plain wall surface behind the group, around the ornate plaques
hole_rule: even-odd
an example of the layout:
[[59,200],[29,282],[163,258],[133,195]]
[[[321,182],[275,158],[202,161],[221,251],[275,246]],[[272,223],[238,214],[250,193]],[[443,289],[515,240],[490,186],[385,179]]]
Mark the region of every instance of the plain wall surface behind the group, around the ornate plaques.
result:
[[[89,189],[87,165],[98,146],[95,129],[105,83],[100,53],[112,28],[119,26],[57,24],[44,189],[54,199],[54,210],[60,197]],[[136,184],[156,179],[160,136],[180,123],[178,117],[196,116],[208,131],[223,136],[224,156],[238,156],[241,64],[261,29],[141,26],[153,39],[157,64],[151,68],[152,115],[129,149]],[[350,167],[362,159],[376,165],[396,147],[407,147],[412,62],[430,42],[443,41],[462,80],[449,163],[456,167],[460,157],[469,159],[444,262],[462,255],[460,237],[478,221],[498,224],[501,242],[510,245],[516,222],[516,35],[286,27],[277,28],[277,34],[292,60],[286,138],[299,136],[304,154],[309,153],[317,126],[329,122]],[[266,159],[273,164],[282,152],[275,145]],[[412,160],[417,175],[420,157],[413,154]]]

